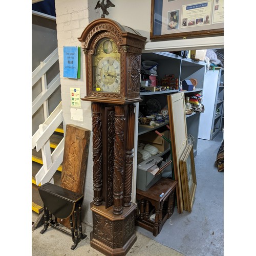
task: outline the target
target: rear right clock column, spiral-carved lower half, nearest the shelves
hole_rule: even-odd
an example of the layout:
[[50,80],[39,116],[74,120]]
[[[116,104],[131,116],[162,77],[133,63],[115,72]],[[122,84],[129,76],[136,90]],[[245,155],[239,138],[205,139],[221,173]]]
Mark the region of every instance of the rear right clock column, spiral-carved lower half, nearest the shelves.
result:
[[128,131],[126,143],[125,177],[124,177],[124,206],[129,207],[132,199],[132,178],[133,178],[133,148],[134,148],[134,125],[135,125],[135,104],[129,105]]

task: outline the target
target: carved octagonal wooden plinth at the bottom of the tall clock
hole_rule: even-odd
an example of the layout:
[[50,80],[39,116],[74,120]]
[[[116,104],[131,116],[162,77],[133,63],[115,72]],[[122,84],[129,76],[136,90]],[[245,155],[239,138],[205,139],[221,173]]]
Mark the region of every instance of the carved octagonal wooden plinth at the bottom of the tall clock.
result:
[[135,209],[123,207],[122,215],[113,214],[113,206],[105,208],[105,203],[96,206],[91,203],[93,211],[93,231],[90,234],[91,247],[105,255],[125,255],[134,245]]

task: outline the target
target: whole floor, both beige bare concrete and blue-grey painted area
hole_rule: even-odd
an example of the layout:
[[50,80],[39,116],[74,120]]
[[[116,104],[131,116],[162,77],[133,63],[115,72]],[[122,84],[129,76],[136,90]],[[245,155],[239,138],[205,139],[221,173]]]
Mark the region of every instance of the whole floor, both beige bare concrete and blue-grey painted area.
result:
[[[224,254],[223,242],[223,176],[215,166],[223,134],[214,140],[198,141],[198,153],[195,157],[197,189],[192,212],[177,213],[162,227],[160,234],[153,234],[136,226],[137,241],[127,255],[186,255],[210,256]],[[32,212],[32,221],[37,214]],[[87,238],[81,240],[75,250],[71,250],[71,237],[52,227],[40,234],[42,227],[32,231],[32,255],[68,256],[103,255],[90,246],[92,227],[82,224]]]

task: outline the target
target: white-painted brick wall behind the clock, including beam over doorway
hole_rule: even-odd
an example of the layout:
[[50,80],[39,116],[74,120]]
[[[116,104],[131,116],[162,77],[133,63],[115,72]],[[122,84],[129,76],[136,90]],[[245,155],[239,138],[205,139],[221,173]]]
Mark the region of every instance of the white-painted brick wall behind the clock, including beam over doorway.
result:
[[[151,0],[112,0],[112,2],[116,6],[108,9],[110,14],[109,16],[106,16],[106,18],[114,19],[121,25],[136,29],[139,33],[141,33],[142,36],[147,37],[148,40],[145,46],[146,51],[161,51],[163,49],[164,51],[206,49],[217,48],[220,45],[223,47],[223,37],[151,42],[149,39]],[[91,103],[81,101],[80,109],[72,108],[70,104],[71,87],[80,88],[81,98],[86,95],[86,70],[84,66],[84,54],[81,52],[81,78],[69,79],[63,77],[63,46],[80,46],[80,42],[77,38],[81,36],[86,26],[92,20],[100,18],[102,13],[101,9],[94,10],[96,3],[96,0],[55,0],[64,126],[72,123],[89,129],[90,131],[92,131]],[[73,112],[79,114],[73,115]],[[78,120],[76,120],[76,118]],[[84,201],[82,206],[82,221],[91,226],[92,211],[90,209],[90,202],[92,201],[93,178],[91,134],[86,182],[84,187]]]

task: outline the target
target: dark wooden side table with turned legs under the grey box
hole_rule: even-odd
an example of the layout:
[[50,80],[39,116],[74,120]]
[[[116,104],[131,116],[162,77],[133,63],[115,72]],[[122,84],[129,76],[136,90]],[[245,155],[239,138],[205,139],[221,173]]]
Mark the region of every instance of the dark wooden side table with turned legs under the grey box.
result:
[[[136,225],[153,232],[155,237],[160,233],[164,222],[173,215],[177,183],[175,180],[161,178],[146,191],[136,190]],[[154,219],[151,218],[153,214]]]

